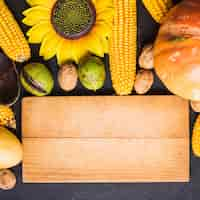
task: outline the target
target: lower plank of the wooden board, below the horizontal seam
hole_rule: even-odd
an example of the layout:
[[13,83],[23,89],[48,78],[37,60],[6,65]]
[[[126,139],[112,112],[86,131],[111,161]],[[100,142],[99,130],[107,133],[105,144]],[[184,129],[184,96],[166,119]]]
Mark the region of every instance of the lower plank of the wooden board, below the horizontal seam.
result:
[[181,182],[186,139],[24,139],[24,182]]

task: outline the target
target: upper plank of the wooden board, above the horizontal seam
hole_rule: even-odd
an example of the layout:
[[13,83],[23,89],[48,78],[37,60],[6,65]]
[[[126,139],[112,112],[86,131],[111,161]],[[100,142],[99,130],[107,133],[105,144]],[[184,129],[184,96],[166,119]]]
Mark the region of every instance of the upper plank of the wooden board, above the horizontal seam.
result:
[[189,129],[188,102],[175,96],[25,98],[22,112],[24,137],[182,138]]

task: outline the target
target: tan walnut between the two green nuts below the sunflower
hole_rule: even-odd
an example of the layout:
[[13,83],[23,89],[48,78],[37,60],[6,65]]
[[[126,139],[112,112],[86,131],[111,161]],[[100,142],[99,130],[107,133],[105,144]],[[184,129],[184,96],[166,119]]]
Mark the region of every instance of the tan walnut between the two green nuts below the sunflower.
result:
[[73,90],[78,82],[78,73],[75,65],[65,64],[58,72],[58,82],[65,91]]

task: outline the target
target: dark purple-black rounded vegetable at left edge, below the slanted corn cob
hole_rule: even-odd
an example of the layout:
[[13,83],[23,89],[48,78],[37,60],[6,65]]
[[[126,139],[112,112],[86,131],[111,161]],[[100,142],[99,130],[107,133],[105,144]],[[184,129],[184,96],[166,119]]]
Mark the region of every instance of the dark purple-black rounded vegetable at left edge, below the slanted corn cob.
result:
[[20,84],[16,66],[0,52],[0,104],[13,105],[19,95]]

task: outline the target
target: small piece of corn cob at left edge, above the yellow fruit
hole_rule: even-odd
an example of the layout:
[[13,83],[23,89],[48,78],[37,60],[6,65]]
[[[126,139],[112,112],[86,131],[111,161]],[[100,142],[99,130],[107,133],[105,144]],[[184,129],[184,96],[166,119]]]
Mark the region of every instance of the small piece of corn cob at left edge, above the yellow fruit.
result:
[[16,128],[14,112],[8,106],[0,105],[0,126]]

